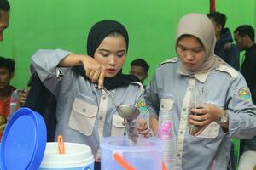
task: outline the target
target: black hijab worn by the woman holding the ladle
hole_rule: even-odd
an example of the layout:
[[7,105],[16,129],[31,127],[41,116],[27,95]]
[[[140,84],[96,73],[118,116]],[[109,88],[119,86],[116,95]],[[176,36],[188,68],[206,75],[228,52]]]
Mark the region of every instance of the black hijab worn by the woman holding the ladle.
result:
[[[125,41],[125,48],[123,48],[123,52],[119,53],[123,54],[124,57],[119,57],[122,59],[125,59],[127,50],[128,50],[128,44],[129,44],[129,37],[128,37],[128,32],[126,31],[125,27],[121,25],[119,22],[114,21],[114,20],[102,20],[100,22],[97,22],[92,28],[90,29],[88,38],[87,38],[87,54],[91,57],[95,57],[95,54],[97,54],[96,49],[99,47],[99,45],[102,43],[102,41],[106,37],[120,37],[120,39],[123,39]],[[120,40],[122,42],[122,40]],[[108,42],[107,42],[108,43]],[[102,53],[102,55],[109,54],[106,50],[100,50],[99,53]],[[104,54],[105,53],[105,54]],[[97,61],[102,61],[102,59],[98,59]],[[101,62],[100,62],[101,63]],[[122,63],[124,64],[124,63]],[[79,65],[74,67],[77,72],[81,75],[85,75],[84,72],[84,66]],[[99,68],[98,71],[100,71],[102,68]],[[90,69],[88,69],[90,70]],[[102,71],[105,71],[102,69]],[[107,89],[113,89],[113,88],[118,88],[121,86],[127,86],[131,82],[139,82],[137,77],[134,77],[132,75],[124,75],[122,74],[122,71],[118,71],[117,74],[116,72],[113,73],[113,76],[106,77],[104,81],[104,87]],[[105,72],[106,74],[106,72]],[[108,74],[108,68],[107,68],[107,74]],[[90,73],[86,74],[88,77]],[[102,78],[102,77],[101,77]],[[90,78],[92,79],[92,78]],[[100,78],[99,78],[100,79]],[[102,84],[99,84],[102,86]]]

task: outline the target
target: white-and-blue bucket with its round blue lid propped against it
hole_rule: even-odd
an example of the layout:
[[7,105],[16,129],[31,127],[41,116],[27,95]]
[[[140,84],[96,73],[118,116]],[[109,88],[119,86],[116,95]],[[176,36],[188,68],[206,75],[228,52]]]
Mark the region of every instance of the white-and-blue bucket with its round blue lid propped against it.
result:
[[46,143],[46,132],[44,118],[38,112],[29,108],[16,111],[3,132],[0,169],[94,169],[89,146],[65,143],[66,154],[60,155],[57,143]]

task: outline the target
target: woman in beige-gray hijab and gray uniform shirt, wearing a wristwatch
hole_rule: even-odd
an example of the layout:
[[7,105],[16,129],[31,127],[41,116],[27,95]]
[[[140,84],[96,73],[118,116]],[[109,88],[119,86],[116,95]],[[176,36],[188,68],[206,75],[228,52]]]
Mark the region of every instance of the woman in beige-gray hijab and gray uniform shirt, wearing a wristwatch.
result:
[[177,58],[161,63],[145,99],[154,134],[172,169],[227,169],[230,139],[256,135],[256,107],[241,74],[214,55],[214,28],[205,14],[177,25]]

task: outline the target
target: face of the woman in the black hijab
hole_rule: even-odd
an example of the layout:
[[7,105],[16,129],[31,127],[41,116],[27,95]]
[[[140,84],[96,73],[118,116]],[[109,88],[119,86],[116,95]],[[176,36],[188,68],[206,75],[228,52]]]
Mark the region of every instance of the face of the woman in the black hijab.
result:
[[125,63],[126,42],[121,35],[108,35],[96,49],[94,59],[106,67],[105,77],[117,75]]

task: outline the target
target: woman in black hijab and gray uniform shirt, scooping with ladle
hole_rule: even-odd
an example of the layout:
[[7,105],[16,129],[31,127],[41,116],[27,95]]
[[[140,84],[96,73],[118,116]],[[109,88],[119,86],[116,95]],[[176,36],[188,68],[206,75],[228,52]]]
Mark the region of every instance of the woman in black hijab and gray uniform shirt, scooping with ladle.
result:
[[[57,100],[55,137],[61,134],[67,142],[89,145],[96,162],[100,162],[102,138],[121,136],[125,131],[123,119],[101,89],[103,85],[116,105],[136,105],[141,111],[139,118],[148,120],[143,85],[136,77],[122,73],[128,42],[123,25],[102,20],[90,29],[89,56],[60,49],[39,50],[32,56],[38,77]],[[148,127],[143,129],[148,131]]]

